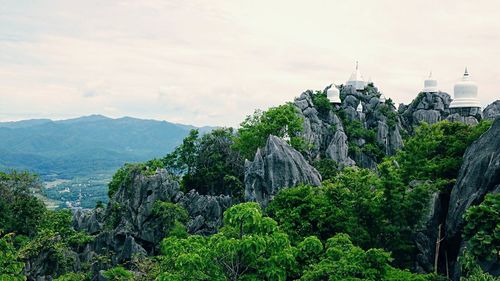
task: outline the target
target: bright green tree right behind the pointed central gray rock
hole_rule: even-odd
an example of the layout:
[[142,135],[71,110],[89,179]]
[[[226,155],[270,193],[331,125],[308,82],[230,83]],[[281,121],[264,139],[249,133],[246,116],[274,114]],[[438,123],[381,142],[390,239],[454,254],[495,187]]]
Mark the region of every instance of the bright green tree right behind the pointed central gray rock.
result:
[[246,159],[253,159],[257,148],[263,147],[269,135],[290,136],[290,144],[302,151],[306,144],[299,136],[303,120],[298,109],[291,103],[272,107],[267,111],[255,111],[240,124],[234,148]]

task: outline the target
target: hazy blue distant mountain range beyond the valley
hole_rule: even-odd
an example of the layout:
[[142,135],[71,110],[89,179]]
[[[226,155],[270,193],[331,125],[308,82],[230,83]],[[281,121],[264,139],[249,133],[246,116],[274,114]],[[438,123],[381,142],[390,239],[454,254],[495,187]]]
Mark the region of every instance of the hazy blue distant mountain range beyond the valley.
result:
[[29,170],[45,180],[110,173],[127,162],[164,156],[194,128],[102,115],[0,122],[0,170]]

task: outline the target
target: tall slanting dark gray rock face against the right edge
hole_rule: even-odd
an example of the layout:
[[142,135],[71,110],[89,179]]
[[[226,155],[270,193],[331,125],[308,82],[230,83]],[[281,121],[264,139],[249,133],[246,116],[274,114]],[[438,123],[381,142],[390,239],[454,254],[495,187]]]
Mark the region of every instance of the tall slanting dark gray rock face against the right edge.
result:
[[[471,206],[480,204],[486,194],[500,192],[500,117],[492,127],[477,139],[464,154],[457,182],[452,189],[446,216],[446,243],[454,278],[458,279],[460,266],[456,262],[459,249],[464,246],[463,215]],[[490,267],[499,270],[500,265]]]

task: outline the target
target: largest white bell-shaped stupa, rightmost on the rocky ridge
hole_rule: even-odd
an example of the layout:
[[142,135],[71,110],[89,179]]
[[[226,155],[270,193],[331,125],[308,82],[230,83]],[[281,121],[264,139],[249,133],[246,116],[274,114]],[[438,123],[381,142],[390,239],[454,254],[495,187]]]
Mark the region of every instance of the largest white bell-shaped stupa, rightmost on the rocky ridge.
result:
[[481,103],[477,98],[477,84],[470,79],[469,72],[465,68],[464,76],[453,88],[453,101],[450,104],[450,109],[480,107]]

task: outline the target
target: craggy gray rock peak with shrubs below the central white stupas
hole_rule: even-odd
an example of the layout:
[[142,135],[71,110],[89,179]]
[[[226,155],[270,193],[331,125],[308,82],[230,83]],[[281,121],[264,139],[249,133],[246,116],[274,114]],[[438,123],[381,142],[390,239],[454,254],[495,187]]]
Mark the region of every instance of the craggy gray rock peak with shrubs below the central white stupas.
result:
[[[309,163],[329,158],[340,168],[358,165],[376,169],[381,157],[403,146],[401,120],[390,101],[379,99],[377,88],[356,91],[343,87],[342,104],[329,110],[314,104],[317,94],[306,91],[294,102],[304,119],[302,137],[312,147],[304,153]],[[359,104],[362,112],[356,110]]]

